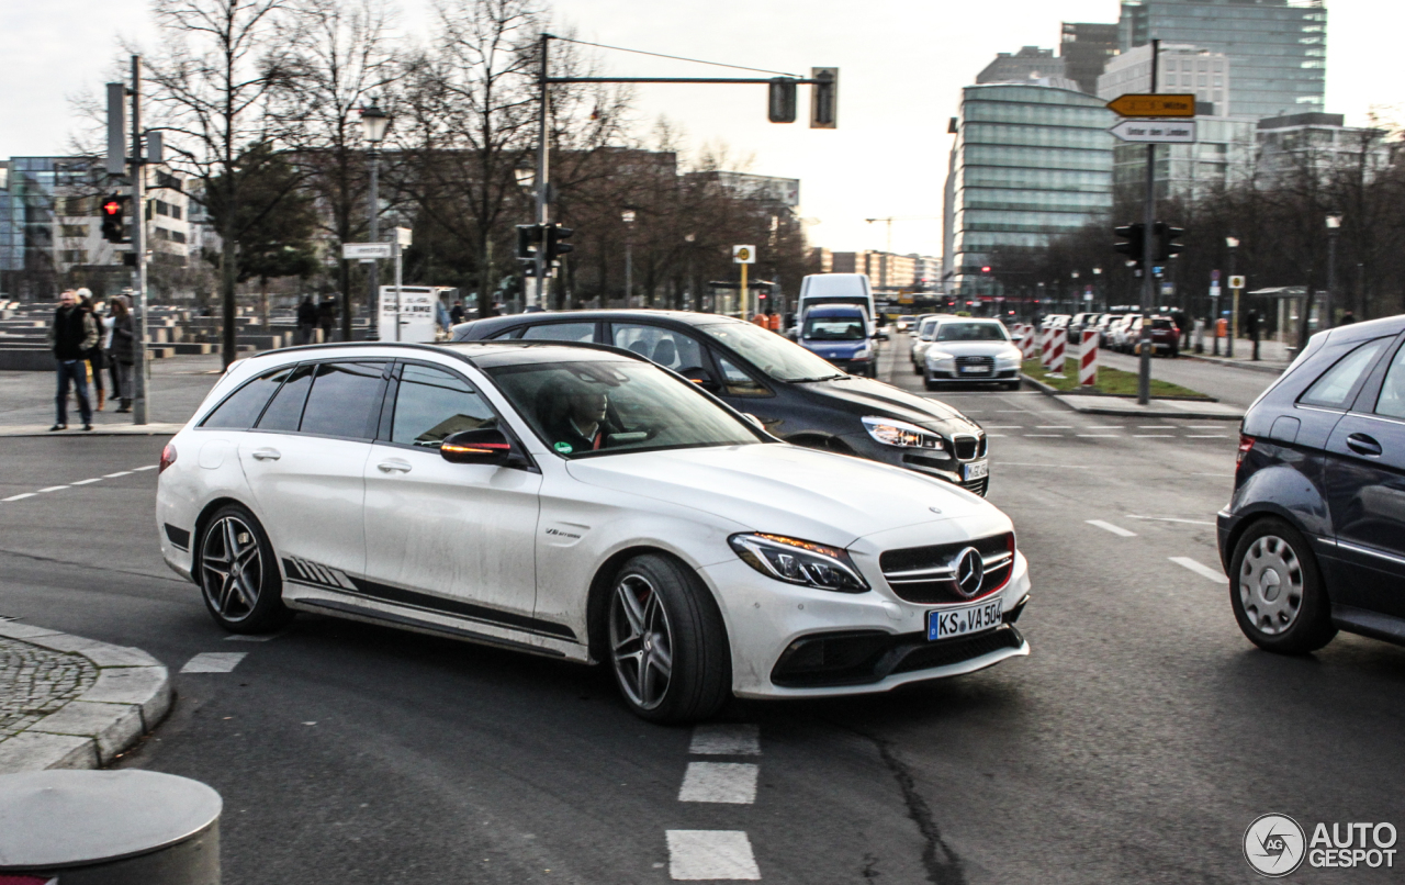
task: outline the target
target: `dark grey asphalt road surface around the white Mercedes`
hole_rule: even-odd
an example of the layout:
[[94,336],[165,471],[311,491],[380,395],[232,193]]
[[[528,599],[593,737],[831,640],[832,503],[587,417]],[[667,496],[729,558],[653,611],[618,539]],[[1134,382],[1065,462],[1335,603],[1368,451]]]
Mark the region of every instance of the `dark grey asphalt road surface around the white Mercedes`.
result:
[[875,697],[732,704],[722,721],[754,725],[759,756],[715,759],[759,766],[752,804],[680,802],[708,759],[693,729],[639,722],[600,670],[306,615],[226,639],[160,562],[155,471],[128,472],[160,440],[0,438],[0,499],[66,486],[0,503],[0,615],[173,671],[246,655],[177,676],[170,719],[122,761],[221,791],[226,884],[667,882],[666,830],[742,832],[763,881],[797,885],[1252,882],[1239,843],[1262,813],[1405,829],[1405,650],[1257,652],[1204,575],[1234,424],[943,398],[992,434],[1033,655]]

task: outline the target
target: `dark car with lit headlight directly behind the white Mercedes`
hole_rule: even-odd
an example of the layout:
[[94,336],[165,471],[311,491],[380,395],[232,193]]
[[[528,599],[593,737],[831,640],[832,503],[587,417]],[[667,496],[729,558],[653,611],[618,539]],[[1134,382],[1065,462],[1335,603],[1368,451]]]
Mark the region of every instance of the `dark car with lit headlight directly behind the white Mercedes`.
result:
[[849,375],[774,332],[715,313],[572,310],[454,326],[455,341],[589,341],[622,347],[753,414],[777,437],[919,471],[985,494],[986,435],[940,402]]

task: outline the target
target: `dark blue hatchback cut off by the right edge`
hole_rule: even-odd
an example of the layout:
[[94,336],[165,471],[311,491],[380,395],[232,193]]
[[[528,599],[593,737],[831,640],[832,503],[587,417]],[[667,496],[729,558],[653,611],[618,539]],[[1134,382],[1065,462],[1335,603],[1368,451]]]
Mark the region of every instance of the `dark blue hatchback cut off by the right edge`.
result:
[[1405,316],[1312,336],[1249,407],[1220,558],[1264,649],[1405,645]]

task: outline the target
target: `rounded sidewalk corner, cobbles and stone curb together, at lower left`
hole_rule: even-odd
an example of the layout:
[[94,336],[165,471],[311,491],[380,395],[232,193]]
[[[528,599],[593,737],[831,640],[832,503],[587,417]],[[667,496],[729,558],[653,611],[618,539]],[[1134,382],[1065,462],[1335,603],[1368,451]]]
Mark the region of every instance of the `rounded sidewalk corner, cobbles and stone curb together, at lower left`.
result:
[[110,764],[171,705],[140,649],[0,621],[0,774]]

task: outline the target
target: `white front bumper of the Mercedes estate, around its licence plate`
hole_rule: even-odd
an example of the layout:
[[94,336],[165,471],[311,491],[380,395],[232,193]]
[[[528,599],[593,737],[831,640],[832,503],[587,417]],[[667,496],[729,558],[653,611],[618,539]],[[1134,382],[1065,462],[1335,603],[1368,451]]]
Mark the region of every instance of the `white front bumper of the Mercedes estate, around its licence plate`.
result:
[[[1030,594],[1028,563],[1019,553],[999,591],[1005,622],[940,642],[924,638],[926,612],[953,605],[906,603],[888,596],[885,586],[856,594],[797,587],[759,575],[740,559],[708,566],[701,575],[726,621],[738,697],[889,691],[1030,653],[1013,624]],[[826,656],[833,666],[825,663]]]

